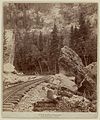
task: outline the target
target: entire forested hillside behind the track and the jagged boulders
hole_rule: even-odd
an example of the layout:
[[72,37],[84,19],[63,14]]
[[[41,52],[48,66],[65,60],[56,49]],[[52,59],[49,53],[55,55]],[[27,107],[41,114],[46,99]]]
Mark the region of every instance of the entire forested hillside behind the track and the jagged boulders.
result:
[[[25,74],[58,73],[58,58],[65,40],[69,41],[67,45],[81,57],[84,65],[96,61],[97,34],[95,29],[97,26],[91,23],[83,12],[89,6],[90,10],[94,8],[92,12],[97,14],[96,7],[91,6],[91,4],[86,7],[76,4],[75,8],[74,4],[61,4],[60,14],[64,21],[64,23],[62,22],[63,30],[56,21],[53,21],[52,30],[49,34],[44,34],[42,28],[46,23],[42,15],[45,12],[45,14],[49,14],[48,7],[52,8],[52,6],[53,4],[43,4],[41,6],[40,4],[27,3],[14,3],[4,6],[4,28],[12,30],[15,35],[13,64],[17,71]],[[82,8],[80,14],[79,8]],[[76,10],[75,14],[74,10]],[[88,11],[88,9],[86,10]],[[30,13],[30,11],[33,12]],[[42,15],[40,15],[40,12]],[[88,16],[91,15],[92,13],[88,13]],[[68,30],[68,27],[65,28],[70,24],[72,24],[71,30]],[[49,27],[51,26],[49,25]],[[32,31],[32,29],[34,30]],[[6,59],[7,38],[5,34],[4,40],[4,59]]]

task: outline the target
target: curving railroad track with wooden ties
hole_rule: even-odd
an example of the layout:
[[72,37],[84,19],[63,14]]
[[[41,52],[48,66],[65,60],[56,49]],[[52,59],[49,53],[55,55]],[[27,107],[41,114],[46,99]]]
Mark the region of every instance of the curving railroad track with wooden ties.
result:
[[31,80],[18,84],[3,90],[3,111],[13,111],[18,102],[32,88],[35,88],[42,82],[49,79],[50,76],[45,76],[40,79]]

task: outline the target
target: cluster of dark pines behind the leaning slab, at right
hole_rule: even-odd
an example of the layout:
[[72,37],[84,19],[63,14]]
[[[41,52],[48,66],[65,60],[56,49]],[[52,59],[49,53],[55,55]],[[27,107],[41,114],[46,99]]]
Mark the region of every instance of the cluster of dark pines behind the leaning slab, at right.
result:
[[70,47],[81,57],[85,66],[93,61],[97,61],[97,37],[96,35],[92,36],[92,32],[93,28],[91,27],[90,21],[86,21],[84,14],[81,12],[79,27],[71,26]]

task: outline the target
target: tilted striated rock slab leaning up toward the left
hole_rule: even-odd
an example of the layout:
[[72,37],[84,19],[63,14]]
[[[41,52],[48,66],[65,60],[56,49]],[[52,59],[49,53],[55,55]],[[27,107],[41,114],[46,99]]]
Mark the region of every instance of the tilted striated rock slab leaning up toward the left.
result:
[[71,48],[64,46],[59,58],[59,70],[67,76],[75,76],[77,84],[84,79],[86,68],[81,58]]

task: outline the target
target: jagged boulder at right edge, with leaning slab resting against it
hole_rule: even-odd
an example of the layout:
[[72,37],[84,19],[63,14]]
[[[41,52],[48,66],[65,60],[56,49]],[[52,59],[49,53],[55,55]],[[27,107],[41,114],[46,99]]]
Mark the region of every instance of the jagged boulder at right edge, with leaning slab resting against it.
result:
[[80,84],[79,91],[84,91],[90,100],[97,99],[97,63],[93,62],[86,66],[88,72]]

